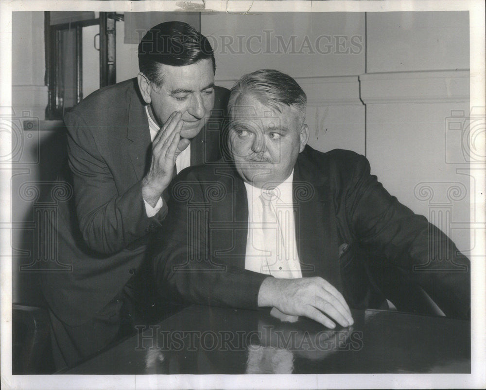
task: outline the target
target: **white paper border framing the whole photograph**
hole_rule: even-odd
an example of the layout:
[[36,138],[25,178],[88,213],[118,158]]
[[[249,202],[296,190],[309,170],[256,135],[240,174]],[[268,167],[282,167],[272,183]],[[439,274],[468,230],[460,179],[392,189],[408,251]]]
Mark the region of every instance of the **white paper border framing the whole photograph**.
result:
[[[182,6],[181,6],[182,5]],[[0,114],[11,107],[12,11],[188,11],[220,12],[386,12],[386,11],[469,11],[470,107],[485,107],[485,4],[483,1],[9,1],[0,3]],[[10,153],[10,140],[2,135],[1,155]],[[483,153],[484,155],[484,153]],[[9,220],[11,172],[2,167],[1,218]],[[485,170],[471,170],[471,199],[485,215]],[[475,181],[475,188],[472,187]],[[473,208],[471,208],[473,209]],[[472,214],[473,211],[471,211]],[[1,255],[11,256],[11,236],[0,229]],[[471,253],[471,374],[288,374],[288,375],[11,375],[12,372],[12,269],[11,261],[1,267],[1,386],[29,389],[117,389],[175,388],[482,388],[486,386],[486,292],[485,237]],[[472,342],[473,341],[473,342]],[[445,341],[447,342],[447,341]]]

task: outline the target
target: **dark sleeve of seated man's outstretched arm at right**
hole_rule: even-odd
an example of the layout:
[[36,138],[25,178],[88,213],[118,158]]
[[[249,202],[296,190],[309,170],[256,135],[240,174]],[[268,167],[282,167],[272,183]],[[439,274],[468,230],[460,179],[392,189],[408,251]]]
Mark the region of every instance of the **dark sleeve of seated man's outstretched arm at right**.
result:
[[346,199],[351,234],[361,244],[379,249],[417,282],[447,316],[467,318],[469,260],[425,217],[391,196],[376,176],[370,175],[369,163],[363,156],[355,156],[351,182],[341,194]]

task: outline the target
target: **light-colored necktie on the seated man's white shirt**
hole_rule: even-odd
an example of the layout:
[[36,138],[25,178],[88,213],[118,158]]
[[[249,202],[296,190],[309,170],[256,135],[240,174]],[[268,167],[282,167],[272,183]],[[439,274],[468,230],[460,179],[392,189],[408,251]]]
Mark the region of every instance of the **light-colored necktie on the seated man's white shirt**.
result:
[[265,241],[265,260],[262,261],[262,269],[265,273],[278,278],[292,278],[292,272],[285,255],[285,240],[282,229],[278,223],[277,214],[272,201],[276,195],[272,191],[262,192],[260,201],[263,206],[262,230]]

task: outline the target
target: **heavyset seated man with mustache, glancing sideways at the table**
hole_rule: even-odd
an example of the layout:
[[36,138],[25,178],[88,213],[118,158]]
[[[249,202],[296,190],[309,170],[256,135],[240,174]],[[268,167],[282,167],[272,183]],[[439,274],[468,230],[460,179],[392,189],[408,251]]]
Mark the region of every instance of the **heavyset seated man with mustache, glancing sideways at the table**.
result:
[[387,308],[370,269],[391,267],[447,316],[468,318],[469,260],[388,194],[364,156],[306,145],[306,96],[295,80],[245,75],[228,110],[232,161],[190,168],[171,185],[171,234],[159,233],[150,252],[160,294],[271,307],[333,328],[353,324],[349,306]]

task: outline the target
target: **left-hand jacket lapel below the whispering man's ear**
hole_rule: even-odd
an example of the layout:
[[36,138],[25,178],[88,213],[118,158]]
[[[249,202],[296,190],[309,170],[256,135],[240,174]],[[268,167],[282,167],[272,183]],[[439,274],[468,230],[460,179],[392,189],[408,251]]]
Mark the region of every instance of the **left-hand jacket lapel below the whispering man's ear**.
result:
[[128,139],[128,156],[132,162],[137,180],[141,180],[150,163],[150,130],[145,107],[141,104],[136,91],[129,96],[128,125],[126,138]]

